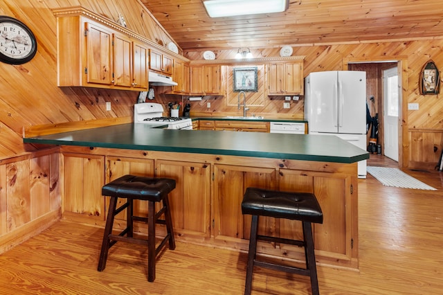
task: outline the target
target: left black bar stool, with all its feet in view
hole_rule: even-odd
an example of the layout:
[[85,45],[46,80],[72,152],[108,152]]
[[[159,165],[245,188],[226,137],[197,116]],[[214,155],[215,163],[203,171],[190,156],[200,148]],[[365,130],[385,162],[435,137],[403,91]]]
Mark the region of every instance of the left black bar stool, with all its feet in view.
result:
[[[102,249],[100,251],[100,260],[98,261],[98,271],[105,269],[109,248],[116,242],[131,242],[147,245],[147,280],[155,280],[155,260],[157,254],[163,249],[166,242],[169,241],[169,249],[175,249],[174,231],[172,229],[172,219],[168,200],[168,193],[175,188],[174,179],[140,177],[134,175],[125,175],[114,181],[109,182],[102,187],[102,195],[111,197],[109,202],[109,211],[106,220],[105,233],[103,234]],[[127,202],[116,209],[117,199],[126,198]],[[148,202],[148,216],[134,216],[133,201],[140,199]],[[162,202],[162,208],[156,212],[155,204]],[[121,211],[127,209],[127,227],[118,235],[112,234],[114,217]],[[159,217],[164,214],[165,219]],[[147,240],[133,238],[133,222],[142,221],[148,224]],[[158,247],[155,241],[156,224],[165,224],[167,235],[161,240]],[[126,235],[126,236],[124,236]]]

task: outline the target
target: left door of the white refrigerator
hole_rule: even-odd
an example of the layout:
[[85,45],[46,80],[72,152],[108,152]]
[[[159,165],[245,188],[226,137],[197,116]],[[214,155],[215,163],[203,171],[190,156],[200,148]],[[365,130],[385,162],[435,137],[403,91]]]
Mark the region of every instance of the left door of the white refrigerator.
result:
[[314,72],[305,81],[305,120],[309,132],[338,132],[336,71]]

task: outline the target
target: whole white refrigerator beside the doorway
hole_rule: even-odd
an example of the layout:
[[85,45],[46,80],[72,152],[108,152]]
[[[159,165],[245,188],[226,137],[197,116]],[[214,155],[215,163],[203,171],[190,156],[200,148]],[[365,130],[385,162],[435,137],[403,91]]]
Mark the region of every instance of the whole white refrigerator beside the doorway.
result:
[[[305,120],[308,134],[327,134],[366,150],[366,73],[323,71],[305,79]],[[366,178],[366,160],[359,161]]]

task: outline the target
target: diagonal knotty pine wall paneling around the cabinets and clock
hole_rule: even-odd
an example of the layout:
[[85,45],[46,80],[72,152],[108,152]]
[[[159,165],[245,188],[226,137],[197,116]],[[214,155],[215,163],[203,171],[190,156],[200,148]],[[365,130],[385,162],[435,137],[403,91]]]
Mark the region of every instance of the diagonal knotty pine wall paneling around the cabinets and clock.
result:
[[[36,57],[23,65],[12,66],[0,63],[0,157],[7,158],[15,154],[35,150],[35,147],[24,145],[21,141],[23,127],[48,123],[62,123],[96,118],[113,118],[133,115],[133,105],[138,93],[132,91],[106,91],[103,89],[59,88],[56,87],[56,35],[55,17],[51,8],[81,5],[111,19],[122,13],[128,28],[145,35],[156,42],[168,44],[170,36],[163,32],[161,26],[151,19],[150,12],[145,10],[137,0],[42,0],[13,1],[0,3],[0,13],[17,17],[24,21],[37,36],[38,51]],[[421,96],[418,91],[419,72],[422,66],[432,59],[440,69],[443,66],[443,55],[440,54],[443,39],[420,39],[417,41],[395,41],[377,43],[306,44],[293,47],[293,55],[305,55],[304,75],[311,71],[341,70],[347,68],[347,61],[372,62],[376,60],[404,60],[407,64],[404,101],[418,102],[418,111],[407,111],[403,121],[410,132],[428,134],[414,136],[415,141],[427,141],[429,133],[440,132],[443,121],[440,96]],[[215,51],[217,59],[232,59],[237,48],[229,51]],[[279,56],[280,48],[263,48],[253,50],[255,57]],[[201,51],[183,53],[190,60],[202,58]],[[161,87],[159,87],[161,88]],[[181,100],[181,96],[162,95],[159,89],[156,99],[160,102]],[[184,98],[186,100],[186,98]],[[237,112],[235,107],[228,106],[224,97],[209,97],[211,108],[206,101],[192,102],[192,111]],[[112,110],[105,110],[105,102],[111,101]],[[303,98],[291,102],[291,109],[282,109],[282,98],[266,98],[263,107],[250,110],[256,114],[272,116],[286,114],[291,118],[302,118]],[[410,139],[404,138],[404,148],[409,149],[407,160],[414,163],[427,161],[423,158],[428,152],[440,153],[441,143],[422,145],[431,151],[410,151]],[[429,146],[429,147],[428,147]],[[415,147],[414,147],[415,148]],[[422,159],[420,159],[422,157]],[[406,165],[408,163],[405,163]]]

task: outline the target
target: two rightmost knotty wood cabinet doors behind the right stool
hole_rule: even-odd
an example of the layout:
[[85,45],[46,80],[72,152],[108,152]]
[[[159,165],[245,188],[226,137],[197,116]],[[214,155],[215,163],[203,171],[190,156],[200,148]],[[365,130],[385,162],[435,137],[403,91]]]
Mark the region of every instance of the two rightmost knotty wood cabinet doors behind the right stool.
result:
[[[352,204],[351,177],[307,170],[215,165],[216,244],[229,244],[233,239],[238,239],[237,243],[240,243],[242,239],[249,238],[251,215],[242,215],[241,209],[244,191],[248,187],[314,193],[324,215],[323,224],[313,224],[314,247],[318,255],[327,253],[323,259],[328,263],[354,263],[356,241],[352,238],[353,224],[350,217],[351,208],[356,204]],[[260,217],[259,234],[302,240],[302,226],[296,220]],[[246,244],[237,247],[246,250]],[[304,257],[299,247],[275,243],[262,243],[257,253],[296,260]]]

